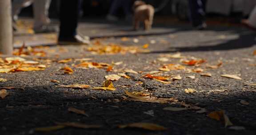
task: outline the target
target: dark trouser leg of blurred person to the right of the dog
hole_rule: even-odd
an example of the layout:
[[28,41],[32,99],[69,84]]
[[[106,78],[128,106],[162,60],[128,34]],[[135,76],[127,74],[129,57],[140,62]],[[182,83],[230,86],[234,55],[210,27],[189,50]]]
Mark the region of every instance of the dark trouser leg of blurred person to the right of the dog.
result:
[[194,27],[204,23],[206,0],[188,0],[190,8],[190,20]]

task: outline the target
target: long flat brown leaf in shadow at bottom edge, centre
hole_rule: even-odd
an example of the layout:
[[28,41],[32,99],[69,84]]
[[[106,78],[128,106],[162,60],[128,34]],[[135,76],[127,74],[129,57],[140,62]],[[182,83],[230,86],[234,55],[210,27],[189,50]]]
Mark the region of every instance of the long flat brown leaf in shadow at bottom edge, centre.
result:
[[126,125],[119,125],[119,128],[127,128],[127,127],[132,127],[132,128],[142,128],[146,130],[151,130],[151,131],[165,131],[168,130],[166,127],[153,124],[153,123],[130,123]]

